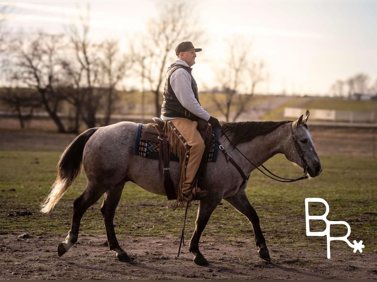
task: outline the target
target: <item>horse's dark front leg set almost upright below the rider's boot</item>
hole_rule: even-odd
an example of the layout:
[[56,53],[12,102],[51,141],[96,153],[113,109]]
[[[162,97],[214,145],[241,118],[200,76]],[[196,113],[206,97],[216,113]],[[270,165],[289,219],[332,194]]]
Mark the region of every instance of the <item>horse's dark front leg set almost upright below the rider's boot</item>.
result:
[[194,255],[194,262],[197,265],[209,264],[208,260],[199,251],[199,239],[211,217],[212,212],[215,210],[220,201],[221,197],[216,200],[216,198],[211,197],[211,195],[204,197],[200,201],[198,214],[195,221],[195,231],[192,234],[189,247],[189,251]]

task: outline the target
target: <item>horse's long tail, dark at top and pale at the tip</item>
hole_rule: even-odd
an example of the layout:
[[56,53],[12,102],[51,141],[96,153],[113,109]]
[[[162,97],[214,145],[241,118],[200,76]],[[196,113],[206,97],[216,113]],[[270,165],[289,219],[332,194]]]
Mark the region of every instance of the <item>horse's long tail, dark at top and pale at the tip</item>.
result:
[[98,128],[90,128],[77,136],[63,151],[58,163],[58,175],[49,195],[41,204],[41,212],[48,213],[63,197],[69,186],[80,174],[83,151],[86,142]]

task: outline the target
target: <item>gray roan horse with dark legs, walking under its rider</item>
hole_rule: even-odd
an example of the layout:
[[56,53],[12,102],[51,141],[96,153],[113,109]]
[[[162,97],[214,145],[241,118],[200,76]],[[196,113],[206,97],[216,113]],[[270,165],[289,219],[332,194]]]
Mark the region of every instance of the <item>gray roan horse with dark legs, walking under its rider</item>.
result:
[[[304,168],[310,176],[319,175],[322,170],[313,139],[306,122],[309,116],[301,115],[296,121],[261,121],[222,123],[223,132],[220,143],[233,160],[242,168],[245,175],[262,165],[278,153]],[[65,241],[58,246],[59,256],[66,253],[77,242],[79,226],[85,211],[103,194],[105,197],[101,213],[106,227],[110,250],[117,253],[121,261],[130,257],[117,241],[113,218],[121,198],[125,183],[131,181],[143,189],[165,195],[163,175],[158,160],[151,160],[134,154],[134,139],[137,124],[123,121],[109,126],[91,128],[77,136],[64,150],[58,163],[58,175],[49,195],[42,203],[41,212],[49,212],[80,173],[81,163],[87,175],[87,187],[83,194],[73,202],[71,229]],[[231,143],[230,143],[230,141]],[[242,152],[242,154],[240,153]],[[251,160],[248,161],[246,158]],[[170,163],[171,177],[178,187],[180,165]],[[200,199],[195,231],[191,237],[189,251],[194,262],[207,265],[207,259],[199,251],[199,238],[221,199],[225,199],[236,210],[244,214],[252,224],[259,256],[270,261],[270,255],[259,226],[259,218],[252,208],[245,188],[247,182],[240,172],[219,154],[217,161],[208,163],[202,189],[208,195]]]

